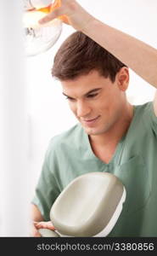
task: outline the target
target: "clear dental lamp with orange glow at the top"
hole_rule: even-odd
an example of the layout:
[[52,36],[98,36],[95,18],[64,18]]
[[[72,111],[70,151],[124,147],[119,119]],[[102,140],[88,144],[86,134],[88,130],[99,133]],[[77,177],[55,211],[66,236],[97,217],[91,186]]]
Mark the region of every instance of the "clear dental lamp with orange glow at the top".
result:
[[25,28],[25,53],[27,56],[41,54],[50,49],[59,38],[62,31],[62,21],[54,19],[45,25],[39,25],[51,10],[54,0],[23,0]]

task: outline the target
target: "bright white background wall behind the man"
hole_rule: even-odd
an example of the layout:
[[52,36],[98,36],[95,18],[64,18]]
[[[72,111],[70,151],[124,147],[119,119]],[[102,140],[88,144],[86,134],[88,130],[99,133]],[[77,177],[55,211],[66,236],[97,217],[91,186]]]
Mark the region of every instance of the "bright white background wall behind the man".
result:
[[[78,2],[99,20],[157,48],[156,0],[80,0]],[[51,77],[53,56],[59,45],[72,32],[74,32],[73,28],[64,25],[59,41],[52,49],[27,59],[30,155],[34,185],[41,172],[43,156],[50,138],[76,123],[62,96],[59,82]],[[130,88],[127,90],[129,101],[134,104],[151,101],[154,88],[132,71],[130,73]]]

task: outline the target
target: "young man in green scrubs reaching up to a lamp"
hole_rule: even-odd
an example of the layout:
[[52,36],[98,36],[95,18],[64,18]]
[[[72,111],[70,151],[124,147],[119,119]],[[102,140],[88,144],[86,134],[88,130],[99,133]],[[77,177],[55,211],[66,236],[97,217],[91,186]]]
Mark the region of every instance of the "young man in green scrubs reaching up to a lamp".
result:
[[54,229],[48,221],[53,201],[86,172],[111,172],[126,187],[109,236],[157,236],[157,93],[141,106],[126,100],[128,67],[157,87],[157,50],[96,20],[74,0],[62,0],[42,22],[61,15],[79,32],[60,47],[53,76],[79,124],[48,147],[32,201],[32,236],[40,236],[39,228]]

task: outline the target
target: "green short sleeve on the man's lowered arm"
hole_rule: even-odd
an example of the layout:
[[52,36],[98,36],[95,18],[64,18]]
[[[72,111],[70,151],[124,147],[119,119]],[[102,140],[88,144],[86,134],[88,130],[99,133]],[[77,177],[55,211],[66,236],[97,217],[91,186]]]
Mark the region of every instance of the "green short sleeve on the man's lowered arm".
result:
[[[51,167],[49,166],[50,158],[51,163],[53,163]],[[42,165],[42,172],[36,185],[35,196],[31,201],[31,203],[38,207],[45,221],[50,219],[49,213],[51,207],[60,193],[59,184],[55,177],[56,169],[55,153],[53,152],[53,148],[48,148]]]

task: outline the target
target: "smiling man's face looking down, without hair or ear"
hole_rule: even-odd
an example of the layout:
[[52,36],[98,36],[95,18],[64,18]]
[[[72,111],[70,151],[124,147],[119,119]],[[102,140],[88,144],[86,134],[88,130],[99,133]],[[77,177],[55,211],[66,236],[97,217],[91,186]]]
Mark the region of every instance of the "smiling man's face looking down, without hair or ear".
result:
[[88,135],[103,134],[121,119],[126,96],[119,82],[120,76],[112,83],[96,70],[61,82],[70,109]]

